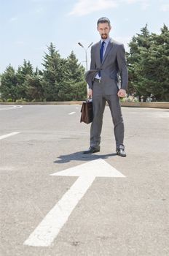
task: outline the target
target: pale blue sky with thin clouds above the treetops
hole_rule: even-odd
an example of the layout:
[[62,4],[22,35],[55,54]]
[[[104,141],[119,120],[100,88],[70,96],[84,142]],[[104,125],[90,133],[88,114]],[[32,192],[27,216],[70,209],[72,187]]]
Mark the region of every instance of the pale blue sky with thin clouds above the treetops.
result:
[[164,23],[169,27],[169,0],[0,0],[0,13],[0,73],[9,64],[17,70],[24,59],[34,69],[43,69],[50,42],[63,58],[74,50],[84,67],[87,49],[89,68],[87,47],[100,40],[97,20],[101,17],[111,20],[110,36],[125,50],[146,23],[156,34]]

